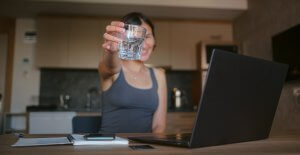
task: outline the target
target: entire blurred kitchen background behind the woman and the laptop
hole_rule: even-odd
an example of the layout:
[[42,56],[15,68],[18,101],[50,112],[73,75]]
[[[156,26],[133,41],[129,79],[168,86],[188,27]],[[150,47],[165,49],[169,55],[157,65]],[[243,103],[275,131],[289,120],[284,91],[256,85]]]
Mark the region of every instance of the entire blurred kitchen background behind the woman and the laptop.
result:
[[300,129],[299,0],[2,0],[1,133],[101,116],[102,34],[133,11],[156,26],[146,63],[167,74],[168,132],[191,130],[215,48],[289,64],[272,133]]

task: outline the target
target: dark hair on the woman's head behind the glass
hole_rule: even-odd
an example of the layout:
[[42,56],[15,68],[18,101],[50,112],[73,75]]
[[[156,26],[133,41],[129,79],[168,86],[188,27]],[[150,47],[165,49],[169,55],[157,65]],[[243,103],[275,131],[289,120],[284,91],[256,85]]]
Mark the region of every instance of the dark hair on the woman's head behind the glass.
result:
[[132,24],[132,25],[142,25],[142,22],[145,22],[146,24],[148,24],[151,27],[152,35],[155,37],[154,25],[153,25],[152,21],[150,20],[150,18],[148,18],[147,16],[145,16],[142,13],[131,12],[131,13],[125,15],[124,17],[122,17],[122,22],[124,22],[125,24]]

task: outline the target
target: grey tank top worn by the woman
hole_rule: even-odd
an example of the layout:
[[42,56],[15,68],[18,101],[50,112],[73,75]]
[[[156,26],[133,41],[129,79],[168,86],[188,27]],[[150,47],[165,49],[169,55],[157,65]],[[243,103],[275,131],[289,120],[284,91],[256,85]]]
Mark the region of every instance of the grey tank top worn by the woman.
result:
[[101,132],[152,132],[153,114],[158,107],[157,81],[149,68],[152,87],[135,88],[127,83],[121,69],[117,80],[102,93]]

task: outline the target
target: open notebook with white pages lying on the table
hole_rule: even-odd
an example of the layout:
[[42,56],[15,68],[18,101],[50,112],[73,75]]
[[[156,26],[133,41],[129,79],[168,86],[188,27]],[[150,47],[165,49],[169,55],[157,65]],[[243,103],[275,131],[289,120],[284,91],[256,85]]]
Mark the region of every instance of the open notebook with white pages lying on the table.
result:
[[128,139],[116,137],[114,140],[105,141],[87,141],[84,135],[72,134],[67,137],[50,137],[50,138],[19,138],[11,145],[13,147],[24,146],[45,146],[45,145],[128,145]]

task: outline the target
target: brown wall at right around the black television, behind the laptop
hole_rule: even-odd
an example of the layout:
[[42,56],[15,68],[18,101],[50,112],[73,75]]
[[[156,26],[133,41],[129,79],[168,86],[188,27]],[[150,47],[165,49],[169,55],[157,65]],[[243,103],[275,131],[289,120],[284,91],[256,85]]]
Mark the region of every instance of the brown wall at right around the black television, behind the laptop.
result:
[[[272,60],[271,37],[300,23],[299,0],[249,0],[249,10],[234,20],[234,40],[245,55]],[[300,103],[293,96],[293,89],[300,81],[285,84],[272,134],[300,129]],[[299,101],[298,101],[299,102]]]

